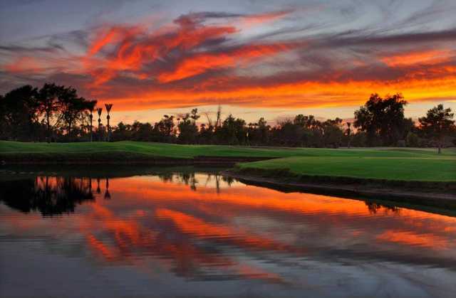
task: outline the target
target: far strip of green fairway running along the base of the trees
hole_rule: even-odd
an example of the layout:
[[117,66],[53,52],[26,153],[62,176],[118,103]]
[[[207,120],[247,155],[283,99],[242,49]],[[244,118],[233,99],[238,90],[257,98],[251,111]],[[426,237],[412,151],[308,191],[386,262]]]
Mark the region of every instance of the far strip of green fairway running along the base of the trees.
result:
[[291,156],[382,156],[382,157],[436,157],[456,158],[456,149],[445,149],[437,155],[435,149],[315,149],[240,147],[219,145],[177,145],[152,142],[84,142],[84,143],[24,143],[0,141],[0,156],[36,154],[41,156],[127,153],[174,158],[195,156],[242,156],[242,157],[291,157]]

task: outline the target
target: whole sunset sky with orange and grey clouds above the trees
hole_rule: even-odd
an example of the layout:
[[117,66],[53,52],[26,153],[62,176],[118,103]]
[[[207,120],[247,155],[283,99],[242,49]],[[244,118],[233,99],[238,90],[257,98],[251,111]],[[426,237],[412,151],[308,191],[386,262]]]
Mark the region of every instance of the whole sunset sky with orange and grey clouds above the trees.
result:
[[454,0],[2,0],[0,93],[72,85],[114,122],[217,105],[274,122],[402,92],[418,117],[456,110],[455,16]]

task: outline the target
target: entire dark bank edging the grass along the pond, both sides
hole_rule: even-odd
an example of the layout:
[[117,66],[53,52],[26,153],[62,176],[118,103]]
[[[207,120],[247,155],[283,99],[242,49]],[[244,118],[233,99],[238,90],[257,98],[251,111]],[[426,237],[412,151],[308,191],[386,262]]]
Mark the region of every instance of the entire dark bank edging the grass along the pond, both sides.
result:
[[[430,206],[456,210],[456,183],[453,181],[396,181],[385,179],[360,179],[346,176],[309,176],[293,174],[286,169],[266,170],[258,168],[241,169],[236,166],[239,162],[263,161],[273,159],[271,157],[234,157],[234,156],[195,156],[194,158],[172,158],[162,156],[125,156],[125,159],[100,159],[100,155],[91,154],[91,158],[69,158],[63,156],[49,160],[45,156],[33,155],[31,159],[16,159],[4,161],[0,158],[0,169],[9,166],[35,166],[41,169],[43,166],[85,166],[98,165],[100,171],[106,167],[120,166],[123,170],[132,169],[130,166],[207,166],[217,169],[224,167],[219,174],[237,179],[242,183],[254,186],[273,188],[284,192],[308,192],[327,196],[345,198],[358,198],[362,200],[390,201],[405,203],[416,206]],[[0,155],[1,156],[1,155]],[[1,156],[3,157],[3,156]],[[22,156],[24,157],[24,156]],[[37,158],[38,157],[38,158]],[[95,158],[97,157],[97,158]],[[125,169],[124,169],[125,168]],[[27,172],[26,170],[22,170]]]

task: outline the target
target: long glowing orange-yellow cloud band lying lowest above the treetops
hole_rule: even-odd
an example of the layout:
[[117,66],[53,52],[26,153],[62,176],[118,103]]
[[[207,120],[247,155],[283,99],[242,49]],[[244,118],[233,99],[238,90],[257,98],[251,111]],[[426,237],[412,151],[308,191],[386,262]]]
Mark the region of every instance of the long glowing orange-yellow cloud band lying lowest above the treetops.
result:
[[[176,77],[178,78],[178,77]],[[218,80],[218,81],[217,81]],[[224,89],[224,80],[215,78],[220,89],[214,85],[209,90],[123,90],[119,95],[98,94],[98,99],[116,103],[119,110],[142,110],[147,108],[192,107],[217,105],[224,102],[249,107],[340,107],[361,105],[372,92],[387,94],[402,92],[409,102],[456,98],[456,75],[444,78],[398,80],[380,82],[375,80],[347,82],[271,83],[271,85],[239,86]],[[218,84],[217,84],[218,85]],[[207,85],[206,85],[207,86]],[[138,100],[140,98],[140,100]]]

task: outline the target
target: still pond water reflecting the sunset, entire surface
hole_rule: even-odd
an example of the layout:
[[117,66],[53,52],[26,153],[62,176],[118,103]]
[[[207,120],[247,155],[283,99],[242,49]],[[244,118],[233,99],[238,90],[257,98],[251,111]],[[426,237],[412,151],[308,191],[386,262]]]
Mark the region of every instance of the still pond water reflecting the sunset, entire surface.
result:
[[450,211],[83,172],[1,171],[0,297],[456,297]]

